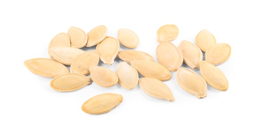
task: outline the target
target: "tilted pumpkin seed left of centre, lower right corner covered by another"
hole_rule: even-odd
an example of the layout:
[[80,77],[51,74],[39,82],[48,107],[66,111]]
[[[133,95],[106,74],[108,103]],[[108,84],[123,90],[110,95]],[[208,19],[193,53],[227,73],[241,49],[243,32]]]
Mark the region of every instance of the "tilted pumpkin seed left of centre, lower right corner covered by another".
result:
[[100,55],[96,51],[86,51],[78,55],[70,66],[70,73],[80,73],[87,75],[90,73],[89,67],[98,65]]

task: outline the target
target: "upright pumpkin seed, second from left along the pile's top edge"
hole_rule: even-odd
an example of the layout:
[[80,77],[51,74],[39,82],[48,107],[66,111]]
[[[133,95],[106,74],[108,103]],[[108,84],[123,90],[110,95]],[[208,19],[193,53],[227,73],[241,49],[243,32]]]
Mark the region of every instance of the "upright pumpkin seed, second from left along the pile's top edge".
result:
[[70,36],[71,47],[82,48],[87,43],[87,35],[80,28],[70,27],[67,34]]

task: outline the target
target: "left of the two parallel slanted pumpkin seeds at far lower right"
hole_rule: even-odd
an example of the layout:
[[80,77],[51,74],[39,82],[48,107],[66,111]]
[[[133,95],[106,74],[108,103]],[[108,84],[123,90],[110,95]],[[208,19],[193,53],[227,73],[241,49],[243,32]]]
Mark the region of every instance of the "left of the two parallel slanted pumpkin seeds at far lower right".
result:
[[204,98],[207,95],[207,84],[202,76],[185,68],[181,67],[176,72],[176,80],[178,84],[191,95],[198,98]]

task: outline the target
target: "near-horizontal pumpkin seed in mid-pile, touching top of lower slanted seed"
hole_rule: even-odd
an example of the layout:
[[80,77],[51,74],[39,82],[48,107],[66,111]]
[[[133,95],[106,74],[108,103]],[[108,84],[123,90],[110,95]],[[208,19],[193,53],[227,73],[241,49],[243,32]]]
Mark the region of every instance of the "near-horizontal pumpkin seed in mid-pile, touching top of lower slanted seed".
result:
[[172,77],[165,66],[154,61],[136,60],[132,61],[131,65],[144,77],[152,77],[160,81],[168,81]]

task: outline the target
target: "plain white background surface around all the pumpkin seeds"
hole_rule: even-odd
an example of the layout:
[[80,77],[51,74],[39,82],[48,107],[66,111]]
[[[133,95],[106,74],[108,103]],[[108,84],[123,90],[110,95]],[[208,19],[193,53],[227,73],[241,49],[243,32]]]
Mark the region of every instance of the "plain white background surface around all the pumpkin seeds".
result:
[[[255,13],[253,1],[1,1],[0,135],[256,135]],[[99,25],[115,38],[120,28],[133,30],[140,38],[135,50],[157,61],[156,31],[166,24],[179,27],[176,46],[182,40],[194,43],[202,29],[230,44],[229,60],[218,65],[229,80],[227,92],[208,86],[208,96],[198,99],[171,72],[164,83],[173,102],[148,96],[139,85],[126,90],[92,83],[60,93],[50,87],[52,78],[34,75],[23,64],[48,58],[48,43],[57,33]],[[116,71],[119,62],[99,65]],[[121,94],[123,102],[103,115],[81,110],[84,101],[102,93]]]

